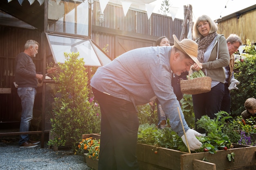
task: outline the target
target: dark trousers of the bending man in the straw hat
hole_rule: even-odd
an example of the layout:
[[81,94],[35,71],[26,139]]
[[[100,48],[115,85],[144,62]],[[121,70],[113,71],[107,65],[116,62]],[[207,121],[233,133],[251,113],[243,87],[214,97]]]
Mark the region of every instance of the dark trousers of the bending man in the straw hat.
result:
[[99,170],[139,170],[136,157],[139,119],[132,102],[92,88],[101,109]]

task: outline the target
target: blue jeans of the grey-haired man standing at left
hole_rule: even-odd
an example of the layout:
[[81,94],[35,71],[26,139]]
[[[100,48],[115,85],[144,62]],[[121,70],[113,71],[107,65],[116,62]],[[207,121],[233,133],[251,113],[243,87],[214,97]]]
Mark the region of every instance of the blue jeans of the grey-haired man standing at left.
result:
[[[18,96],[21,99],[21,119],[20,119],[20,132],[28,132],[30,121],[33,118],[33,107],[36,96],[36,89],[34,87],[18,87]],[[27,142],[29,135],[20,135],[19,145]]]

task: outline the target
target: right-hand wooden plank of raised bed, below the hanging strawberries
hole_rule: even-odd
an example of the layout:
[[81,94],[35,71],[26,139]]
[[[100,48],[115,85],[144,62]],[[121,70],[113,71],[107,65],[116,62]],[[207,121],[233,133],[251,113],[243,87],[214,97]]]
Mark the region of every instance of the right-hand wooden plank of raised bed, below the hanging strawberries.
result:
[[[235,153],[235,161],[229,161],[227,154]],[[207,153],[192,153],[180,155],[181,170],[192,170],[193,159],[202,160],[204,157],[208,162],[215,163],[216,169],[227,170],[231,168],[239,168],[243,166],[253,166],[256,164],[256,146],[233,148],[228,150],[219,150],[215,154]]]

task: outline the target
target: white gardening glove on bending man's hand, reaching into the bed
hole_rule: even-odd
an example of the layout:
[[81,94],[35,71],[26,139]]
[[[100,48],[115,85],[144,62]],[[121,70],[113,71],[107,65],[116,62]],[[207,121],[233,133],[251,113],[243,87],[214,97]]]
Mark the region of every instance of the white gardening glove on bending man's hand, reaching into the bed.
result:
[[[190,150],[199,149],[202,146],[202,143],[196,138],[196,136],[201,137],[201,133],[198,133],[193,129],[189,129],[188,131],[186,131],[186,138],[188,140]],[[186,144],[185,135],[182,135],[181,138],[186,147],[188,147]]]

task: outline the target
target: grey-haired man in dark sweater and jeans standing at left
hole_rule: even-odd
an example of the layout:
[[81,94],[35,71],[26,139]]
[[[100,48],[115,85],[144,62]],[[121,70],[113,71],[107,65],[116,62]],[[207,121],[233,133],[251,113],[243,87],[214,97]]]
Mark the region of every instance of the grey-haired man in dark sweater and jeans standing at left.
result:
[[[21,99],[21,120],[20,132],[29,131],[30,121],[33,118],[33,107],[36,96],[36,87],[38,79],[42,80],[42,74],[36,74],[36,66],[32,58],[38,53],[39,43],[34,40],[28,40],[24,46],[24,52],[16,57],[16,75],[15,80],[18,85],[18,96]],[[29,140],[28,134],[20,135],[20,148],[33,148],[38,146],[40,141]]]

